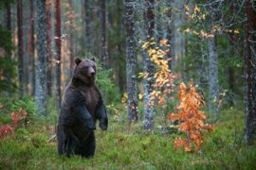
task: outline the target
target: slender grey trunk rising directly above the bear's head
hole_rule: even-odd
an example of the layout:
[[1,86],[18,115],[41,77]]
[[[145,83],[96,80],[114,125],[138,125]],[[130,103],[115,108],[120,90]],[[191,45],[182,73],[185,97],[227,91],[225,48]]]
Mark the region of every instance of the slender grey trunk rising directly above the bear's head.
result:
[[89,0],[84,0],[84,19],[85,19],[85,48],[86,57],[89,58],[91,52],[91,38],[90,38],[90,5]]

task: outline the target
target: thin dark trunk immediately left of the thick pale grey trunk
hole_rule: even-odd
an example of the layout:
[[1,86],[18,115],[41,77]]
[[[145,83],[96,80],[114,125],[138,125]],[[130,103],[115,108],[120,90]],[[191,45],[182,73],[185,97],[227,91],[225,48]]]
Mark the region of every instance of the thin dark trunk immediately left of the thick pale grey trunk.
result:
[[35,38],[34,38],[34,0],[30,0],[30,28],[31,28],[31,51],[30,51],[30,65],[31,65],[31,87],[32,95],[35,95],[36,89],[36,72],[35,72]]

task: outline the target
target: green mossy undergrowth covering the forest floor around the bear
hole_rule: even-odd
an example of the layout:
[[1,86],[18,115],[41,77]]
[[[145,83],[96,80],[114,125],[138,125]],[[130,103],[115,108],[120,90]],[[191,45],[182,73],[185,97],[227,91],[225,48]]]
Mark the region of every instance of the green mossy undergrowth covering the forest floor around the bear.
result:
[[[142,121],[129,126],[110,118],[107,131],[95,131],[94,158],[67,159],[58,155],[56,139],[47,143],[55,124],[38,119],[0,142],[0,169],[255,169],[256,144],[244,143],[244,120],[243,110],[222,111],[214,131],[205,135],[205,145],[187,153],[174,151],[174,139],[186,136],[177,130],[164,133],[155,126],[151,134],[142,129]],[[0,125],[7,121],[1,117]]]

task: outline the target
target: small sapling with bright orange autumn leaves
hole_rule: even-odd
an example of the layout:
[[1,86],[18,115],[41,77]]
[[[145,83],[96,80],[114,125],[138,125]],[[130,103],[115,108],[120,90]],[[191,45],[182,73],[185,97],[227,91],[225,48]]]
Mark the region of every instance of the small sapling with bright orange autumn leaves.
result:
[[177,108],[177,114],[169,114],[168,117],[171,119],[178,119],[180,122],[180,131],[184,131],[187,134],[187,139],[175,139],[174,140],[174,150],[178,150],[181,147],[185,147],[185,151],[197,151],[200,145],[204,143],[204,132],[212,132],[213,126],[205,124],[207,114],[200,110],[200,107],[205,106],[203,97],[196,93],[196,88],[192,85],[188,87],[181,83],[179,86],[178,99],[180,104]]

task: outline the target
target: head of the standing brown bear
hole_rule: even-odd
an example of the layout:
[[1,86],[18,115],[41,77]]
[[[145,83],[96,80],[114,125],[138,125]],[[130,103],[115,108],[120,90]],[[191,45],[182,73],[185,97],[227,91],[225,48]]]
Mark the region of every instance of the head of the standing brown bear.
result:
[[93,85],[97,76],[97,67],[95,57],[91,59],[75,58],[75,66],[73,69],[73,79],[82,81],[87,85]]

